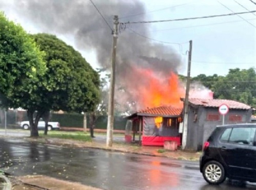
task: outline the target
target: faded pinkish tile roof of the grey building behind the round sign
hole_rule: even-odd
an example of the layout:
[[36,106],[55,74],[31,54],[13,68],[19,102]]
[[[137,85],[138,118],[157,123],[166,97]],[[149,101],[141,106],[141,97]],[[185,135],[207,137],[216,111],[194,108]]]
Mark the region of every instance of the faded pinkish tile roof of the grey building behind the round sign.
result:
[[251,106],[234,100],[189,98],[189,103],[214,108],[219,107],[221,104],[226,104],[229,109],[251,109]]

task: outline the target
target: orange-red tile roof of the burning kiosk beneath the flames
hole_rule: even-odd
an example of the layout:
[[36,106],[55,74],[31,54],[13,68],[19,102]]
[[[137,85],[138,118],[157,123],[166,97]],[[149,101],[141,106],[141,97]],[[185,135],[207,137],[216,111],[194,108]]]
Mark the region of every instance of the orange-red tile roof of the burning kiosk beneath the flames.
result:
[[156,115],[156,116],[180,116],[182,108],[174,108],[172,106],[159,106],[148,108],[137,112],[138,115]]

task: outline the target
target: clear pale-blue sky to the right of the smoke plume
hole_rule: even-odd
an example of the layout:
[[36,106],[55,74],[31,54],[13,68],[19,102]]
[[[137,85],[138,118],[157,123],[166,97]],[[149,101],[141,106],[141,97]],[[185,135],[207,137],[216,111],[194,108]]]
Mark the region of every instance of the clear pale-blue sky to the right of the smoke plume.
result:
[[[236,1],[250,11],[256,10],[256,5],[249,0]],[[217,0],[145,0],[144,2],[149,11],[181,5],[171,9],[148,13],[148,16],[152,20],[221,15],[231,13],[229,9],[234,12],[247,11],[234,0],[220,0],[229,9]],[[241,15],[241,17],[246,20],[254,19],[249,20],[249,22],[255,27],[235,15],[220,18],[155,23],[150,26],[152,28],[150,29],[150,37],[165,42],[177,43],[192,40],[191,75],[226,75],[229,69],[256,67],[256,14],[248,13]],[[179,49],[179,47],[176,47],[176,49]],[[185,54],[188,49],[188,43],[182,44],[182,54]],[[184,59],[185,64],[187,64],[187,55],[184,55]],[[187,67],[184,67],[184,69],[181,69],[181,72],[186,75],[186,70]]]

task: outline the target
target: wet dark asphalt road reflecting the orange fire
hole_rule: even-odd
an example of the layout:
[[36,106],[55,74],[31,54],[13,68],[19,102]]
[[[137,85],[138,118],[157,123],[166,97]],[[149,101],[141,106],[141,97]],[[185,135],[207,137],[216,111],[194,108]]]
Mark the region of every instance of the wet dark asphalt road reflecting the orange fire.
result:
[[197,162],[123,154],[88,148],[67,148],[20,139],[0,139],[0,169],[16,175],[48,175],[108,190],[256,189],[234,182],[210,186]]

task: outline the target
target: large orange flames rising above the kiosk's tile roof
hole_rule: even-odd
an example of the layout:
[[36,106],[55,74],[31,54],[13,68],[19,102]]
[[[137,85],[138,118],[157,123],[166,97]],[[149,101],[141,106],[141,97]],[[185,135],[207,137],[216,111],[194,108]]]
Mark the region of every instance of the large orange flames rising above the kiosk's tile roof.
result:
[[161,105],[178,108],[183,106],[180,98],[185,96],[185,89],[180,85],[178,76],[174,72],[170,72],[170,75],[165,77],[150,69],[133,67],[133,77],[138,93],[137,102],[141,108]]

